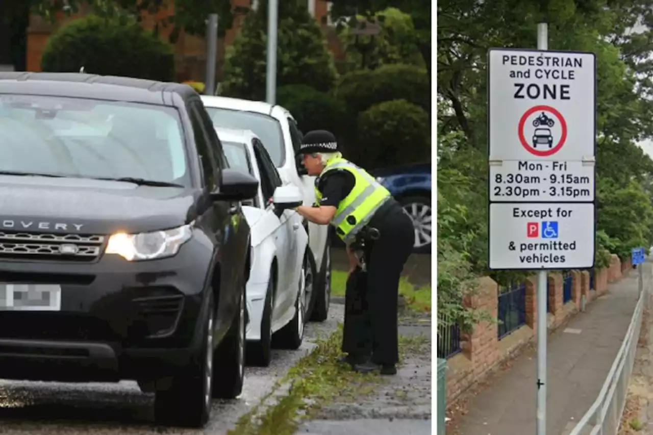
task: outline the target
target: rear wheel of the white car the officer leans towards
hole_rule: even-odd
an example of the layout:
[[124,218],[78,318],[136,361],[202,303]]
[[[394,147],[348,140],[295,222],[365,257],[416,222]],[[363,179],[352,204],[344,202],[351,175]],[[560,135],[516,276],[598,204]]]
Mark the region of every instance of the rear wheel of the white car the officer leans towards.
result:
[[311,250],[306,249],[304,252],[304,261],[302,261],[302,272],[299,280],[299,290],[295,299],[295,316],[285,325],[279,329],[273,336],[275,347],[281,349],[299,349],[304,341],[304,327],[306,326],[306,304],[310,302],[307,300],[307,289],[312,291],[315,283],[315,261],[311,261]]

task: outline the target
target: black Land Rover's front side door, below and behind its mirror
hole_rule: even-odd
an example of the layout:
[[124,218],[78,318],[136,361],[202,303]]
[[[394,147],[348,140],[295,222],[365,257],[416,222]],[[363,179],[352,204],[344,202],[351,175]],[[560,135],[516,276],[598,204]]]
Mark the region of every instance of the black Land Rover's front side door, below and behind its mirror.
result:
[[[196,131],[196,140],[202,140],[198,148],[202,153],[202,167],[212,167],[214,180],[209,187],[213,191],[221,180],[221,171],[227,167],[213,124],[206,115],[206,111],[199,101],[191,103],[191,120]],[[208,122],[207,122],[208,121]],[[199,132],[199,133],[198,133]],[[205,163],[206,161],[206,163]],[[208,170],[208,169],[207,169]],[[247,251],[238,241],[238,227],[240,225],[240,204],[238,202],[215,201],[212,203],[213,217],[211,222],[215,240],[218,244],[220,267],[220,291],[217,302],[217,330],[224,330],[231,325],[231,319],[236,314],[238,307],[238,263],[244,261]],[[244,243],[240,243],[241,245]],[[242,260],[240,259],[242,257]]]

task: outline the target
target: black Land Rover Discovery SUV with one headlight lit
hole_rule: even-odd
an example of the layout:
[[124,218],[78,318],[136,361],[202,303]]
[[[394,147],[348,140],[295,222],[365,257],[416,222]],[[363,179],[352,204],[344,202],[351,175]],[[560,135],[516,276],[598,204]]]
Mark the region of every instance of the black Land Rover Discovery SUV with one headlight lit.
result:
[[254,178],[182,84],[0,73],[0,378],[136,379],[201,427],[242,390]]

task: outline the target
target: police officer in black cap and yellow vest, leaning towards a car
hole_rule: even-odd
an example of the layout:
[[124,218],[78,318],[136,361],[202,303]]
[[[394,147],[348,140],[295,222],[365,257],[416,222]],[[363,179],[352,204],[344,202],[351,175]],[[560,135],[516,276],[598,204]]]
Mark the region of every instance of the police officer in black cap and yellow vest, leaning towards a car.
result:
[[364,242],[363,299],[367,304],[365,307],[363,302],[363,308],[368,311],[371,346],[358,343],[359,350],[370,349],[368,355],[351,355],[353,349],[349,347],[350,362],[357,372],[380,370],[382,374],[396,374],[399,278],[413,248],[413,223],[383,185],[364,169],[343,159],[338,150],[332,133],[306,133],[297,154],[302,155],[308,174],[318,176],[317,203],[299,206],[297,211],[311,222],[336,228],[336,234],[347,244],[350,279],[352,272],[362,266],[351,246]]

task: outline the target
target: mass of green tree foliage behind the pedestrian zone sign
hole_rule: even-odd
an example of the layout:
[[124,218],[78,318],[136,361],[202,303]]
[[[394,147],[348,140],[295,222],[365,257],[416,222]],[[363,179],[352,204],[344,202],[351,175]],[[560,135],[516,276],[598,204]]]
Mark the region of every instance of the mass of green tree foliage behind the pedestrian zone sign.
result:
[[[653,242],[653,161],[637,146],[653,135],[653,33],[630,30],[652,27],[652,6],[650,0],[438,2],[438,195],[465,210],[441,216],[438,207],[438,218],[453,228],[438,233],[438,244],[464,253],[462,265],[488,274],[487,50],[535,48],[538,22],[549,23],[551,49],[597,57],[597,266],[605,265],[607,250],[624,257]],[[457,234],[465,234],[464,245]],[[507,283],[517,275],[493,278]],[[439,286],[438,296],[443,292],[456,289]]]

